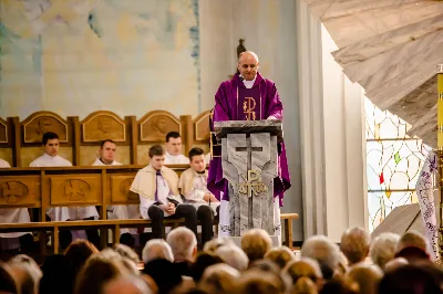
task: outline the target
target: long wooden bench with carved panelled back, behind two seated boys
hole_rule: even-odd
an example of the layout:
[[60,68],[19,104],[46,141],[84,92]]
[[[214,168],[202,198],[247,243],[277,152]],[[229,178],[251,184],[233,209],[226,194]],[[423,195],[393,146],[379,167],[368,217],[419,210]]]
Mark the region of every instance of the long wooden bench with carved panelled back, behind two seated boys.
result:
[[[59,248],[59,230],[84,229],[96,227],[101,232],[102,245],[107,244],[107,229],[114,232],[113,242],[119,242],[120,228],[134,228],[148,220],[107,220],[106,207],[116,204],[138,204],[138,196],[130,192],[131,182],[140,168],[144,166],[106,166],[106,167],[48,167],[48,168],[10,168],[0,169],[0,208],[32,208],[38,211],[35,222],[1,223],[0,232],[41,232],[42,244],[45,233],[53,233],[54,252]],[[174,166],[181,174],[187,165]],[[47,222],[45,211],[49,207],[99,207],[100,220]],[[292,248],[292,221],[297,213],[281,213],[285,243]],[[165,220],[165,225],[183,225],[183,220]],[[44,246],[42,246],[44,249]]]

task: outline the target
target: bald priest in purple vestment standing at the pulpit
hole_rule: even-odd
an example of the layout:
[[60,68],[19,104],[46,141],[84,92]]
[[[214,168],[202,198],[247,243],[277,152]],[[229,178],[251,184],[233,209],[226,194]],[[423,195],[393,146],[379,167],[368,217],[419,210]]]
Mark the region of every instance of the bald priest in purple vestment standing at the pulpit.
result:
[[[215,94],[213,122],[282,120],[284,106],[276,84],[270,80],[264,78],[258,73],[258,56],[254,52],[246,51],[239,55],[237,73],[231,80],[223,82]],[[213,153],[215,157],[209,164],[207,186],[219,200],[228,201],[227,180],[223,178],[222,158],[216,157],[222,155],[220,146],[214,146]],[[278,154],[279,172],[278,177],[274,179],[274,196],[278,197],[279,201],[275,202],[281,207],[284,193],[291,186],[284,143],[278,144]]]

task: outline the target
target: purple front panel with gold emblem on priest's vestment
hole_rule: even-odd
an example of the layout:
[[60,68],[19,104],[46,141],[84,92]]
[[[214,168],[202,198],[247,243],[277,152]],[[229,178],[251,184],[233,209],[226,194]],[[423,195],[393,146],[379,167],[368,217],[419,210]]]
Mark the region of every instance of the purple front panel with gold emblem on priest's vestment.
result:
[[237,86],[237,120],[259,120],[262,117],[260,85],[246,88]]

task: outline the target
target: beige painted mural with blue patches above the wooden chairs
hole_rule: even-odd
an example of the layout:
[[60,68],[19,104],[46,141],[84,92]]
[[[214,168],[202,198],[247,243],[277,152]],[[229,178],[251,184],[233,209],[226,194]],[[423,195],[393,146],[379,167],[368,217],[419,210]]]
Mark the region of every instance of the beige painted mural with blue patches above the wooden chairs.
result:
[[198,0],[0,0],[0,116],[198,114]]

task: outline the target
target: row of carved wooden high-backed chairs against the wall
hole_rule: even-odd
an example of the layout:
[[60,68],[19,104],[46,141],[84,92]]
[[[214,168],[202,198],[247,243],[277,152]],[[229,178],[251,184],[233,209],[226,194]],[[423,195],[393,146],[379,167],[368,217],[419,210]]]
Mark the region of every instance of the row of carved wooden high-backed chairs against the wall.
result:
[[0,118],[0,158],[13,167],[28,167],[41,155],[41,139],[45,132],[60,137],[60,155],[74,166],[90,166],[102,140],[117,144],[117,160],[126,165],[148,162],[147,150],[165,143],[166,134],[178,132],[186,154],[193,147],[209,151],[209,111],[196,117],[176,117],[166,111],[153,111],[137,119],[100,111],[80,120],[78,116],[62,118],[52,112],[37,112],[24,120],[19,117]]

